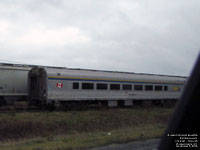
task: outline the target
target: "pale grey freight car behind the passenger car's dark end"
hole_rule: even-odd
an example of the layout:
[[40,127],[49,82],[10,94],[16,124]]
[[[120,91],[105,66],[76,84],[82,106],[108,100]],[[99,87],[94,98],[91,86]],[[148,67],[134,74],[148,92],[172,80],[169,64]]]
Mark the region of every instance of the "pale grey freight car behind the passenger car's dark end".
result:
[[0,105],[13,104],[28,97],[28,71],[30,67],[0,64]]

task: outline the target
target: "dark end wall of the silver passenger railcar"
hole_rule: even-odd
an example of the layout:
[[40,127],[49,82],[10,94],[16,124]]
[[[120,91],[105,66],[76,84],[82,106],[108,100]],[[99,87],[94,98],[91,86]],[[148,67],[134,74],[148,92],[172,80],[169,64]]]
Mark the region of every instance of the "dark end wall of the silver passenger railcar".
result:
[[47,98],[47,79],[44,68],[33,68],[29,72],[29,102],[44,104]]

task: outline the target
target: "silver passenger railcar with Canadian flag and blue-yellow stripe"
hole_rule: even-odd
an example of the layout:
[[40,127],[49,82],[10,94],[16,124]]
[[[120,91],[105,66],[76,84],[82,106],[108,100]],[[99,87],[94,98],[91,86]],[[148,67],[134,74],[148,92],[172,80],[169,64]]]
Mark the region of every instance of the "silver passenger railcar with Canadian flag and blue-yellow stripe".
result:
[[108,106],[133,101],[177,100],[186,77],[82,69],[33,68],[30,103],[100,102]]

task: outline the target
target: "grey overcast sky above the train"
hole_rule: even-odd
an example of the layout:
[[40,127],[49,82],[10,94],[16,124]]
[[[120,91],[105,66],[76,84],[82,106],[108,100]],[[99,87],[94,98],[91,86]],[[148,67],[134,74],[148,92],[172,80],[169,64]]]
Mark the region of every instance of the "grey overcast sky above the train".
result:
[[200,0],[1,0],[0,62],[189,75]]

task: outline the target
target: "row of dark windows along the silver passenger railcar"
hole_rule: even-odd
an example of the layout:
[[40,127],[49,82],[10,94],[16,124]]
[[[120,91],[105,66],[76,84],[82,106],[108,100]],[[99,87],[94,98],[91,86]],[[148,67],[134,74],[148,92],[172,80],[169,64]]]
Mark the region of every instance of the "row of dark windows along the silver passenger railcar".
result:
[[[122,90],[132,90],[134,87],[134,90],[136,91],[142,91],[143,88],[145,91],[168,91],[168,86],[162,86],[162,85],[155,85],[153,88],[153,85],[140,85],[135,84],[132,86],[132,84],[122,84]],[[79,89],[79,83],[74,82],[73,83],[73,89]],[[94,83],[82,83],[82,89],[83,90],[93,90],[94,89]],[[97,83],[96,84],[97,90],[108,90],[108,84],[106,83]],[[120,90],[120,84],[110,84],[110,90]]]

